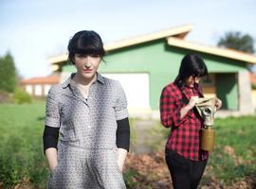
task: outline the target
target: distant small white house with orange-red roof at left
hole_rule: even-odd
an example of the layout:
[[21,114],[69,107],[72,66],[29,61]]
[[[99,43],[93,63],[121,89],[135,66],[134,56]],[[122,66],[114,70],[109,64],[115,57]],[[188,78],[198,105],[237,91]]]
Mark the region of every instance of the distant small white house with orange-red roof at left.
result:
[[33,77],[29,79],[23,79],[21,85],[26,92],[35,97],[43,97],[49,91],[51,85],[60,83],[61,77],[52,75],[48,77]]

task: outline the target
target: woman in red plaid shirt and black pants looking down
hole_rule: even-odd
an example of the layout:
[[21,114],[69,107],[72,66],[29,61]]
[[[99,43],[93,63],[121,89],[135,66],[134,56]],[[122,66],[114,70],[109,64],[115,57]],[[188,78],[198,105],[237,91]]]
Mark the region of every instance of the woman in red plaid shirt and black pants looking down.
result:
[[[186,55],[178,76],[161,94],[161,123],[172,129],[165,154],[175,189],[197,188],[209,158],[208,152],[200,149],[203,120],[194,110],[198,97],[203,97],[200,78],[207,75],[207,66],[199,55]],[[221,105],[217,99],[217,110]]]

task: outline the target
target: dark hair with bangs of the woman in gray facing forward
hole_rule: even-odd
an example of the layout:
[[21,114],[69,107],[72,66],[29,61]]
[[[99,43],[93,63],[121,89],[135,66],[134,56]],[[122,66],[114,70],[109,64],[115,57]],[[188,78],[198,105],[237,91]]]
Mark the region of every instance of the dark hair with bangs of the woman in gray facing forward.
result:
[[82,30],[77,32],[69,41],[68,60],[74,64],[75,54],[94,55],[101,58],[105,55],[101,36],[95,31]]

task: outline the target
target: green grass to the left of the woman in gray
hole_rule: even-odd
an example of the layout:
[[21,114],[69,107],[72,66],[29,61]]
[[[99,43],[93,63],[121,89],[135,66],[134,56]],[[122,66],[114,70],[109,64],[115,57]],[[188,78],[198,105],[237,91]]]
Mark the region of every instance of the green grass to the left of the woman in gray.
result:
[[35,188],[45,188],[45,103],[0,105],[0,116],[0,180],[4,187],[27,178]]

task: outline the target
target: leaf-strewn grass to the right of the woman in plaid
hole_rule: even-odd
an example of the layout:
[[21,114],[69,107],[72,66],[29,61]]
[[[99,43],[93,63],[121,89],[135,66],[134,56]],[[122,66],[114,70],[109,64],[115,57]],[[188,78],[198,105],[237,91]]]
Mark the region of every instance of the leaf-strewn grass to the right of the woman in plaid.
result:
[[216,146],[210,156],[212,173],[231,182],[256,178],[256,116],[215,121]]

